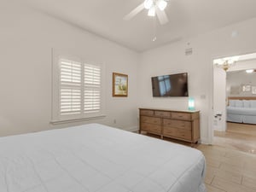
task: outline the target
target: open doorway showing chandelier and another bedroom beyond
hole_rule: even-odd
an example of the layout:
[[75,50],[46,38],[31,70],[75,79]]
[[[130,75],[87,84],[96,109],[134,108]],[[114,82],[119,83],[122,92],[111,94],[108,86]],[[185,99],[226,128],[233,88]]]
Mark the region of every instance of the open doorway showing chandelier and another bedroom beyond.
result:
[[256,54],[213,63],[212,143],[256,154]]

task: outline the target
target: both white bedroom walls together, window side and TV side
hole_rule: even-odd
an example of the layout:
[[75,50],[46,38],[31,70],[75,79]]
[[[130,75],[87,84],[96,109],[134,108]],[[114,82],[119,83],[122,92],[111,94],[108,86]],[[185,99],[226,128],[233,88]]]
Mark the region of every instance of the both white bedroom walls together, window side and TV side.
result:
[[[212,125],[208,125],[209,116],[213,117],[212,60],[256,52],[256,19],[194,38],[183,38],[175,44],[138,55],[130,49],[11,2],[2,1],[0,11],[1,136],[67,126],[49,124],[50,49],[55,48],[70,50],[90,61],[106,64],[107,117],[97,122],[123,129],[137,126],[137,107],[187,109],[187,98],[153,98],[150,78],[188,72],[189,96],[195,97],[195,108],[201,110],[201,138],[207,143],[212,134],[209,131]],[[233,31],[237,32],[236,37],[231,37]],[[193,48],[193,55],[184,55],[184,50],[190,47]],[[129,75],[128,98],[112,97],[112,72]],[[113,119],[117,120],[117,124],[113,124]]]

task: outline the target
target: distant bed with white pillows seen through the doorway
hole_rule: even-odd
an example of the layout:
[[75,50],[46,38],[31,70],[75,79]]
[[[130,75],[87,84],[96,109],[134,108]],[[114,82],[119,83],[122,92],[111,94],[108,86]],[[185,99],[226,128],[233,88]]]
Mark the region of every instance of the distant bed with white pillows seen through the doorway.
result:
[[229,97],[227,121],[256,124],[256,97]]

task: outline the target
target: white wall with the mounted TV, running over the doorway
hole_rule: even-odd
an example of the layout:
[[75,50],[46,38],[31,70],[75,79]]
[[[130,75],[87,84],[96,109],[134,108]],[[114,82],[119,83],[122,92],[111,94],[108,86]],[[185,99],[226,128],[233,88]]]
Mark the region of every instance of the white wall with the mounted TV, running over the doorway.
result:
[[[237,32],[236,37],[231,33]],[[253,53],[256,50],[256,19],[226,26],[195,38],[183,38],[176,44],[167,44],[146,51],[139,66],[139,104],[154,108],[187,108],[186,98],[154,99],[150,78],[154,75],[188,72],[189,96],[195,97],[195,108],[201,110],[201,139],[211,143],[212,136],[212,60],[229,55]],[[188,46],[188,43],[190,44]],[[193,54],[186,56],[184,50],[192,47]]]

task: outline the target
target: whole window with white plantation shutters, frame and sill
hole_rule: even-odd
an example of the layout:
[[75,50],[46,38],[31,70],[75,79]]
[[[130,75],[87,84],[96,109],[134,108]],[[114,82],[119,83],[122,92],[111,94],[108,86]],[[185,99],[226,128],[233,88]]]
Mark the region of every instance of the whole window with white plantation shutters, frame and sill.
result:
[[102,65],[58,56],[53,63],[52,122],[102,117]]

